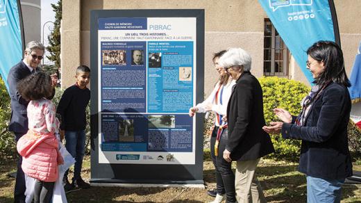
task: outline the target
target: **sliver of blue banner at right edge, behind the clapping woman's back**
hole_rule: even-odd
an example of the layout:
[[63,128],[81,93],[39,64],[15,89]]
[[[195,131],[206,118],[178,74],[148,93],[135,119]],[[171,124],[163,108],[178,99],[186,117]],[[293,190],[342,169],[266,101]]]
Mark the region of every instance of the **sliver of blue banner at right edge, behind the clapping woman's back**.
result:
[[353,63],[350,81],[349,92],[353,103],[361,101],[361,43],[360,47],[358,47],[355,63]]

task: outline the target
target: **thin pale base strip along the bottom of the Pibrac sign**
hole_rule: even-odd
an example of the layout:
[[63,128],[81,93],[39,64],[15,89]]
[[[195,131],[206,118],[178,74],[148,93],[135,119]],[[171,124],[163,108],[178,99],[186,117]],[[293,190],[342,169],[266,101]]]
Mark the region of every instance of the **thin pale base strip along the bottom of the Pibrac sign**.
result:
[[124,187],[124,188],[205,188],[204,184],[115,184],[90,183],[90,186]]

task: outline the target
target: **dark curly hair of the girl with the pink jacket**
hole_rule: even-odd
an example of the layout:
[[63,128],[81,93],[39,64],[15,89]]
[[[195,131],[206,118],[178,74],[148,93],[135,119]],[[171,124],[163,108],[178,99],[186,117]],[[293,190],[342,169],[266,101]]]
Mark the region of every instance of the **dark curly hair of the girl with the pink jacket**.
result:
[[17,84],[17,91],[26,100],[37,100],[51,96],[51,78],[44,72],[36,72]]

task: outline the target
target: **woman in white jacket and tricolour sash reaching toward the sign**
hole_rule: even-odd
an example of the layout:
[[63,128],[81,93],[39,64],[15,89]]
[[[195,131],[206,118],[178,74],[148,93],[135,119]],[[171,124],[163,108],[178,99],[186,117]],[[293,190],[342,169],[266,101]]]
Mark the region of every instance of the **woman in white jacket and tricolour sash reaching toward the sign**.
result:
[[[219,81],[210,96],[200,104],[190,108],[190,116],[194,113],[204,113],[206,111],[213,111],[216,114],[215,127],[210,138],[210,152],[212,162],[215,165],[215,175],[217,182],[217,189],[215,200],[212,203],[219,203],[224,200],[226,194],[227,202],[236,202],[235,199],[235,174],[232,171],[231,163],[223,159],[222,152],[228,140],[226,117],[228,99],[232,88],[235,85],[235,80],[230,78],[230,75],[224,71],[224,68],[219,66],[218,60],[226,50],[219,51],[213,56],[213,63],[217,72],[219,73]],[[212,195],[212,190],[208,191]]]

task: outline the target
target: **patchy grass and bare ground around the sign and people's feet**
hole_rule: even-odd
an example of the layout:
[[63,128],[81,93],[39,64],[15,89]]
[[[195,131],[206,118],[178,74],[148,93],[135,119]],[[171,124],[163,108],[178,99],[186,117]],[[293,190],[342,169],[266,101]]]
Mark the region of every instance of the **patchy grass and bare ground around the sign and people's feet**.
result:
[[[200,188],[119,188],[92,187],[67,193],[68,202],[209,202],[205,194],[215,187],[214,167],[209,152],[205,152],[203,177],[205,189]],[[235,166],[235,165],[234,165]],[[8,177],[15,171],[12,159],[0,159],[0,202],[13,202],[15,179]],[[258,166],[258,179],[267,202],[306,202],[305,176],[296,171],[297,163],[262,159]],[[361,170],[361,165],[354,165]],[[82,176],[90,178],[90,156],[85,157]],[[342,202],[361,202],[361,184],[344,184]]]

